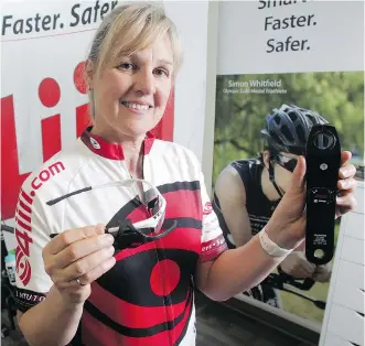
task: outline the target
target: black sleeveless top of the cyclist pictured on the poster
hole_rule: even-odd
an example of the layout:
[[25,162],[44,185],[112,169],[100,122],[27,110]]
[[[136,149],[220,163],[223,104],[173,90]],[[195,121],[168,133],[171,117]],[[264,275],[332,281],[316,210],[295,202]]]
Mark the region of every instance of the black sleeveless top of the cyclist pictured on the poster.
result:
[[[269,221],[279,202],[270,202],[262,192],[261,173],[262,164],[255,159],[236,160],[229,163],[234,167],[245,186],[246,209],[249,216],[253,236],[257,235]],[[221,212],[219,201],[214,195],[213,209],[216,213],[219,224],[229,248],[235,248],[230,241],[230,231]]]

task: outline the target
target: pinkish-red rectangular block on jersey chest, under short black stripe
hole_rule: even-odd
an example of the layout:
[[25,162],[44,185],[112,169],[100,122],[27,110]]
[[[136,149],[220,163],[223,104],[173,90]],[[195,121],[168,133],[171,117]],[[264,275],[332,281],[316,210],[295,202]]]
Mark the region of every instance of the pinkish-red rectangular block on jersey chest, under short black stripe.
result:
[[200,190],[178,190],[163,194],[167,199],[165,218],[191,217],[202,219],[202,197]]

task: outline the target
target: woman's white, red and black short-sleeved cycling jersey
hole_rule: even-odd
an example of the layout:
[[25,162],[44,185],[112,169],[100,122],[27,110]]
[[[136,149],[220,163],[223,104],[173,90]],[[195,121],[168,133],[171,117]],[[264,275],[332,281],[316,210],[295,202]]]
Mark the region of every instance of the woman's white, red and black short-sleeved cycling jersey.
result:
[[[31,174],[21,188],[15,296],[23,312],[42,302],[53,284],[42,259],[51,234],[150,217],[122,187],[92,190],[46,204],[79,188],[130,177],[121,145],[89,130]],[[174,220],[178,227],[162,239],[115,253],[115,267],[92,283],[73,345],[195,345],[193,274],[198,261],[216,259],[227,246],[196,156],[150,134],[143,151],[143,177],[167,199],[162,229]]]

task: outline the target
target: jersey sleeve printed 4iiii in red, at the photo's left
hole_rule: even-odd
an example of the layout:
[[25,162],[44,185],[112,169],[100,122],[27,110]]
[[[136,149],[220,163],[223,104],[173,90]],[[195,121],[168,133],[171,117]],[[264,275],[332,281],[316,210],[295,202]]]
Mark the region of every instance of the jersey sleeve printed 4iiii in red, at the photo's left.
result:
[[[25,186],[25,187],[24,187]],[[15,304],[25,312],[45,299],[52,280],[44,270],[42,249],[50,241],[44,205],[26,183],[22,186],[15,210]]]

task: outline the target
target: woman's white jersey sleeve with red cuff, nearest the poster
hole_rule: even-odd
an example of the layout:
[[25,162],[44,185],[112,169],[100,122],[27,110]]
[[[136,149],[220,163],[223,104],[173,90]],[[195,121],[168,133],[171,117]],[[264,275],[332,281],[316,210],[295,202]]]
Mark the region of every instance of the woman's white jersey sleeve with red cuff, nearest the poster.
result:
[[213,210],[213,206],[201,172],[200,184],[202,194],[202,240],[201,240],[201,262],[214,261],[223,251],[227,250],[227,244],[223,236],[218,218]]

